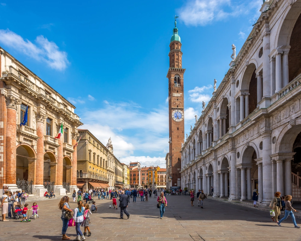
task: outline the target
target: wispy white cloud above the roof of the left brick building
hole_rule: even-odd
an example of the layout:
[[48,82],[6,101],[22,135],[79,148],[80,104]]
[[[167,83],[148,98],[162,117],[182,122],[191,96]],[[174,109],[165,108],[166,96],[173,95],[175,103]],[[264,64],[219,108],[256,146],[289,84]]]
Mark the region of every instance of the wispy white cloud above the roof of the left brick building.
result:
[[40,35],[36,37],[36,44],[28,39],[24,40],[20,35],[9,29],[0,29],[0,42],[3,45],[14,48],[16,51],[23,52],[27,56],[48,64],[52,69],[65,70],[69,61],[67,53],[60,51],[54,42]]

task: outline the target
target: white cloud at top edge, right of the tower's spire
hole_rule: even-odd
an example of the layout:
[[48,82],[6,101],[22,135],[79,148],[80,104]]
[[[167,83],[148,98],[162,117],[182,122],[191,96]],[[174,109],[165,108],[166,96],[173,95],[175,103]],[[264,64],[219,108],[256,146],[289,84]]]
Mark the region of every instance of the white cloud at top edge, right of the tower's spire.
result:
[[257,11],[261,4],[261,0],[243,3],[230,0],[191,0],[179,9],[179,16],[186,25],[205,26],[214,21]]

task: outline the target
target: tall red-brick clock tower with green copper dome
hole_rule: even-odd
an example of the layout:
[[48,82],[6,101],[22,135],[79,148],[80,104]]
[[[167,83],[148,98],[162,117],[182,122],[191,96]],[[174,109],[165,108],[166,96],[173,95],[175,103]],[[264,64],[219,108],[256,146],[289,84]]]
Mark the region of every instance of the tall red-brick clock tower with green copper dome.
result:
[[[175,17],[176,18],[176,17]],[[184,133],[184,72],[182,69],[181,38],[178,35],[177,22],[169,44],[168,103],[169,103],[169,156],[171,187],[181,186],[181,148]]]

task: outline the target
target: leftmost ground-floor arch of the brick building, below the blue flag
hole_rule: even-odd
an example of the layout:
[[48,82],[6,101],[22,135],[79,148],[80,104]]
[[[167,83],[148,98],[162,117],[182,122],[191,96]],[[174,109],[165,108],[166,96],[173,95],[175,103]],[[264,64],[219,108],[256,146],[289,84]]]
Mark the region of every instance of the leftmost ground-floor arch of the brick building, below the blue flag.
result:
[[36,176],[36,153],[27,144],[21,144],[16,150],[16,179],[34,181]]

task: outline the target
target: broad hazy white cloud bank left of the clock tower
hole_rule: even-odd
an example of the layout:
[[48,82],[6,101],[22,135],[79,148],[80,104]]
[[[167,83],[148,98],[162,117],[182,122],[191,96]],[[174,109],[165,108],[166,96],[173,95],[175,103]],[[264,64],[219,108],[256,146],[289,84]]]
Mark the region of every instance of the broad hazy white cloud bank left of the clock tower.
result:
[[[136,103],[110,103],[80,115],[82,127],[103,144],[111,136],[117,158],[168,152],[168,108],[144,110]],[[141,155],[141,156],[142,156]],[[162,154],[163,155],[163,154]]]

